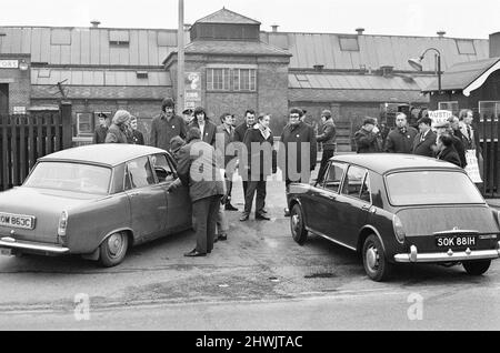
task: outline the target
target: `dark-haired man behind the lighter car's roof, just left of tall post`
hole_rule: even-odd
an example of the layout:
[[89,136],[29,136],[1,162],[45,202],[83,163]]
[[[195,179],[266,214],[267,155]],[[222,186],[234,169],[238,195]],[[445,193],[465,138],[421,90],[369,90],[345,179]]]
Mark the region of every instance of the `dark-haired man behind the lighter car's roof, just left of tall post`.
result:
[[161,113],[151,122],[150,144],[168,151],[170,140],[177,135],[186,139],[186,123],[182,118],[176,115],[173,100],[166,98],[161,103]]

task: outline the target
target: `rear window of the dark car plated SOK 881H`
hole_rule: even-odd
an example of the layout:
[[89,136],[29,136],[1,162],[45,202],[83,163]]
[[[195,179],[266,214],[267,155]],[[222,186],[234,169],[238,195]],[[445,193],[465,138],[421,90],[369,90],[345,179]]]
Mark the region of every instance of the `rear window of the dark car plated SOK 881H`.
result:
[[386,176],[392,205],[484,203],[469,176],[452,171],[398,172]]

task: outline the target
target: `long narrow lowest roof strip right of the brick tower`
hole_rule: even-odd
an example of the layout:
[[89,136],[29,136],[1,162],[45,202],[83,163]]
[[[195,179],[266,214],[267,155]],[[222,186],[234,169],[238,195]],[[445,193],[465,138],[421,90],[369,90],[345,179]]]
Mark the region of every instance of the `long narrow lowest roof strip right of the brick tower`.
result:
[[291,102],[413,102],[428,103],[419,91],[289,89]]

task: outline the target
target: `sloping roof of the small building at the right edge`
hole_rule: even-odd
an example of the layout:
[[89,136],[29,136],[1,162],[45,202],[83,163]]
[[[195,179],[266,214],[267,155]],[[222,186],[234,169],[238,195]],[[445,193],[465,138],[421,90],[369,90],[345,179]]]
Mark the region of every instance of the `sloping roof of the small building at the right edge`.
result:
[[[490,58],[454,64],[441,75],[441,90],[463,90],[464,95],[480,88],[488,77],[500,70],[500,58]],[[423,92],[438,91],[438,80],[434,79]]]

